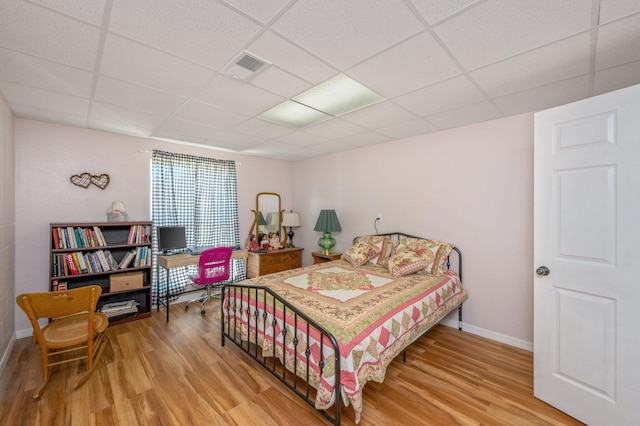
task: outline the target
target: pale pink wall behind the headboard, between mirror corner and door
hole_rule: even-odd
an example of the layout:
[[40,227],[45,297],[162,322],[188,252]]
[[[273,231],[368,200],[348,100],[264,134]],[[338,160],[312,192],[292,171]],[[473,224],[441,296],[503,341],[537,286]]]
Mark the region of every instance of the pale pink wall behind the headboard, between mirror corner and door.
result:
[[[404,231],[449,241],[463,253],[467,329],[533,341],[533,115],[524,114],[374,145],[295,165],[294,238],[305,264],[320,209],[336,209],[353,237]],[[520,343],[520,344],[518,344]]]

